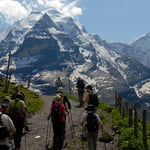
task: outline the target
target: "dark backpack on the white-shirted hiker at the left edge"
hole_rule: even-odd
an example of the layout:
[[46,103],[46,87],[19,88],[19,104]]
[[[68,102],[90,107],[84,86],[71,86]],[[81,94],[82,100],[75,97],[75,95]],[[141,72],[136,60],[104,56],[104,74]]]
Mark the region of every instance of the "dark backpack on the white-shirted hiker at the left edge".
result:
[[7,129],[7,127],[3,125],[1,117],[2,117],[2,115],[0,115],[0,140],[3,140],[6,137],[9,137],[10,132]]

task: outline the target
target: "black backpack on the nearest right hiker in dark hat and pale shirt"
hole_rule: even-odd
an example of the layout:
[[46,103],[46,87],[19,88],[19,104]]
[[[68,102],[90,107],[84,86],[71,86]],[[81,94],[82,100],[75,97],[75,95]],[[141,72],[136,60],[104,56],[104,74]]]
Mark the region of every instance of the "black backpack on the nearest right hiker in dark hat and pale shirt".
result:
[[94,132],[99,130],[99,123],[95,113],[88,112],[86,122],[86,128],[88,132]]

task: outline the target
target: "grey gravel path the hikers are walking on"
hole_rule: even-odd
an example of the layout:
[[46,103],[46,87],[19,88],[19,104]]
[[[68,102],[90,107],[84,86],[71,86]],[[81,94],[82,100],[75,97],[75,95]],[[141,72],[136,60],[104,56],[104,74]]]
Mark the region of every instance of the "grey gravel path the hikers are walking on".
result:
[[[49,133],[49,145],[52,145],[53,131],[47,132],[47,116],[49,114],[49,106],[52,101],[52,96],[41,96],[41,99],[45,101],[45,105],[39,113],[36,113],[32,118],[28,119],[30,132],[22,137],[21,150],[46,150],[46,137]],[[66,143],[68,146],[64,150],[87,150],[87,143],[81,142],[82,128],[80,126],[80,118],[83,113],[83,108],[76,108],[78,105],[76,102],[71,101],[72,109],[70,117],[67,117],[66,127]],[[72,116],[72,119],[71,119]],[[73,120],[73,121],[72,121]],[[74,126],[72,127],[72,122]],[[107,126],[107,128],[109,128]],[[50,128],[48,128],[50,130]],[[109,129],[110,130],[110,129]],[[101,133],[100,133],[101,134]],[[116,142],[113,144],[105,144],[97,142],[97,150],[117,150]]]

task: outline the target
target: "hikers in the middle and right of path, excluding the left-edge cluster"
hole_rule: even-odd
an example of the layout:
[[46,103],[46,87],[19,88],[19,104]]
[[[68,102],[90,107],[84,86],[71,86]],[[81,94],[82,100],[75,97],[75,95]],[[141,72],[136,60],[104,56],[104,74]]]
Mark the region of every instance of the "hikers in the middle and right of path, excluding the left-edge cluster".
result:
[[[56,80],[56,95],[50,106],[48,120],[51,119],[53,125],[53,145],[51,150],[61,150],[64,146],[66,116],[71,109],[68,98],[63,93],[64,84],[60,77]],[[84,80],[78,77],[76,88],[78,91],[79,105],[77,108],[84,107],[85,112],[81,116],[82,140],[88,142],[88,150],[96,150],[98,130],[103,127],[102,121],[97,113],[99,104],[98,96],[94,93],[91,85],[85,86]],[[86,90],[86,91],[85,91]],[[67,103],[67,105],[66,105]]]

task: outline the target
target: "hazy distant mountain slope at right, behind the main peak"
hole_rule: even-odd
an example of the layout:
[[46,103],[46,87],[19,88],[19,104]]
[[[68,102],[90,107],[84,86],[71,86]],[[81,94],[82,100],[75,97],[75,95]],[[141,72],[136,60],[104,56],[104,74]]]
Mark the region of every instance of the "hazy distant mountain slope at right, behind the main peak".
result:
[[121,55],[136,59],[150,68],[150,33],[147,33],[130,44],[108,43],[108,47]]

